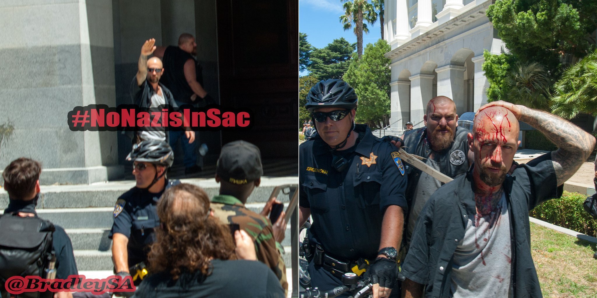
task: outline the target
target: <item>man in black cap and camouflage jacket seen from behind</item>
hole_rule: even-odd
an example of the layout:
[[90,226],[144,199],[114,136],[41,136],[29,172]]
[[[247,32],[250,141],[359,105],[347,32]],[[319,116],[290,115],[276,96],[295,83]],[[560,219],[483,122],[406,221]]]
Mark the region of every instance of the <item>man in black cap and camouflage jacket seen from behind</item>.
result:
[[211,200],[211,209],[224,224],[238,224],[240,229],[251,235],[257,259],[272,269],[284,291],[288,291],[286,266],[278,251],[278,246],[282,249],[279,242],[284,239],[286,229],[284,212],[272,228],[269,219],[245,207],[247,198],[261,183],[261,175],[261,153],[256,145],[245,141],[224,145],[216,166],[220,194]]

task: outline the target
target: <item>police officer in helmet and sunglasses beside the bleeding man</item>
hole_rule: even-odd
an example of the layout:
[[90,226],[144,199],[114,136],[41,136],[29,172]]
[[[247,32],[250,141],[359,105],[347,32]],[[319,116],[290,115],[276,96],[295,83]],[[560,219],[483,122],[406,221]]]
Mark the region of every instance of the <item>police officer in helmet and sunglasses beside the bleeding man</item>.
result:
[[331,290],[368,262],[361,277],[371,278],[374,297],[398,297],[407,178],[397,149],[355,125],[357,104],[355,90],[337,79],[316,83],[307,95],[318,131],[299,146],[299,224],[313,218],[309,274],[313,287]]

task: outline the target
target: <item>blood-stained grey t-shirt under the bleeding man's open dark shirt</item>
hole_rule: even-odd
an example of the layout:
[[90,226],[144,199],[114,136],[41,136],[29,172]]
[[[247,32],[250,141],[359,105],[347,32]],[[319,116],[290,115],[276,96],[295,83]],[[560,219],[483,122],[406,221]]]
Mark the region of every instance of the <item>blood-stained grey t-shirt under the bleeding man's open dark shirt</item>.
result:
[[468,215],[452,265],[453,297],[512,297],[512,249],[506,195],[489,215]]

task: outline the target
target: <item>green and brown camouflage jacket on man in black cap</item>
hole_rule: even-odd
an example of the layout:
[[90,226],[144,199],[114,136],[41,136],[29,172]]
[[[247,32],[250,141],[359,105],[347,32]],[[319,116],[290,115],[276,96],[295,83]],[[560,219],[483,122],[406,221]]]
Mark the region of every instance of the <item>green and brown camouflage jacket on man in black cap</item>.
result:
[[214,216],[224,224],[238,224],[253,238],[257,259],[272,269],[280,280],[284,291],[288,291],[286,265],[276,247],[273,238],[272,224],[269,219],[245,207],[238,198],[232,195],[216,195],[211,200]]

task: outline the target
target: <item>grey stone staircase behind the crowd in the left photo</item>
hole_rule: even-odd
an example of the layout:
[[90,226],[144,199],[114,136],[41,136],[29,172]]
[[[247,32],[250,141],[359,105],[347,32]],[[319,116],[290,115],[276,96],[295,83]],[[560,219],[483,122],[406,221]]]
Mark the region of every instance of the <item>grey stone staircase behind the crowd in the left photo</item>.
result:
[[[181,182],[198,185],[213,197],[219,192],[219,184],[213,178],[180,179]],[[298,184],[298,177],[261,178],[257,187],[247,200],[247,207],[259,213],[278,185]],[[38,201],[38,216],[63,227],[70,237],[75,250],[75,259],[79,273],[86,275],[106,275],[111,272],[112,240],[107,235],[112,227],[112,212],[116,198],[134,187],[134,181],[103,182],[92,185],[42,185]],[[281,195],[278,200],[288,207],[288,195]],[[8,205],[8,195],[0,190],[0,210]],[[286,210],[286,207],[284,210]],[[284,261],[287,269],[291,262],[290,223],[282,241],[285,248]],[[109,275],[109,274],[107,274]],[[106,275],[106,276],[107,276]]]

